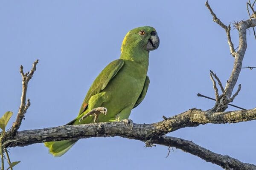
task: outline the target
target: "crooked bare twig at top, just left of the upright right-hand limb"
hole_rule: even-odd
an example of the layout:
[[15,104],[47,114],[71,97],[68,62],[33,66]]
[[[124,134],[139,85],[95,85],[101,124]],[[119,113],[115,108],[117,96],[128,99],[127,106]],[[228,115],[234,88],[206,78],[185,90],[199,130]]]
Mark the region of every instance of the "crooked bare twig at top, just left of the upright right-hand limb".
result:
[[221,22],[221,20],[218,19],[218,17],[216,16],[216,14],[212,11],[212,8],[209,6],[208,0],[205,2],[205,6],[209,9],[210,13],[212,14],[213,17],[213,21],[215,23],[217,23],[219,26],[221,26],[222,28],[224,28],[224,30],[226,31],[227,34],[227,42],[228,45],[230,47],[230,53],[232,54],[233,57],[235,57],[236,55],[236,50],[234,49],[234,44],[231,40],[231,36],[230,36],[230,24],[228,26],[226,26],[224,23]]

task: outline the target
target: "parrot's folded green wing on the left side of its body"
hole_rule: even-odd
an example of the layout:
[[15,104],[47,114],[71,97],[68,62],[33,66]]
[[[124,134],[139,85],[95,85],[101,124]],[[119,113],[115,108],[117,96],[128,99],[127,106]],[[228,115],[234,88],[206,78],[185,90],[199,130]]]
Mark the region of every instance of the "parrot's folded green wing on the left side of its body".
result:
[[124,60],[116,59],[109,63],[102,70],[102,72],[99,74],[98,77],[96,77],[93,84],[90,86],[87,95],[85,96],[85,99],[81,105],[79,115],[86,110],[90,97],[100,93],[104,88],[106,88],[108,82],[110,82],[110,80],[113,79],[113,77],[115,77],[115,75],[118,73],[118,71],[122,68],[124,64]]

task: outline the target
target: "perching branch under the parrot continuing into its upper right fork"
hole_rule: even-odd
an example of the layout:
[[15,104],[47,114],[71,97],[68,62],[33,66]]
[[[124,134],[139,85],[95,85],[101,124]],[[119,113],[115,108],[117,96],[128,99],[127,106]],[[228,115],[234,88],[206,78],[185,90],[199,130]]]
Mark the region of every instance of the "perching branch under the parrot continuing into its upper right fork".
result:
[[[152,136],[163,136],[167,133],[173,132],[183,127],[196,127],[198,125],[204,125],[207,123],[214,124],[223,124],[223,123],[237,123],[237,122],[245,122],[250,120],[256,120],[256,108],[250,110],[242,110],[242,111],[228,111],[228,112],[207,112],[202,111],[201,109],[190,109],[189,111],[180,113],[176,116],[172,116],[170,118],[166,118],[165,120],[152,124],[134,124],[133,130],[130,127],[125,126],[123,122],[107,122],[107,123],[97,123],[97,124],[85,124],[85,125],[65,125],[59,127],[51,127],[45,129],[38,130],[24,130],[17,133],[15,136],[15,140],[18,140],[16,143],[12,143],[12,146],[26,146],[34,143],[48,142],[48,141],[56,141],[56,140],[64,140],[64,139],[80,139],[84,138],[81,136],[90,137],[95,135],[95,128],[97,129],[97,134],[105,134],[110,135],[110,131],[106,131],[106,125],[111,128],[109,130],[115,130],[116,133],[123,134],[122,137],[129,137],[130,133],[135,133],[136,130],[140,131],[137,133],[137,139],[145,139],[148,140]],[[95,126],[94,126],[95,125]],[[100,126],[99,126],[100,125]],[[102,125],[102,126],[101,126]],[[86,132],[83,130],[79,131],[79,128],[75,128],[79,126],[81,128],[86,129]],[[76,130],[76,135],[73,136],[70,134],[69,130],[74,127]],[[90,133],[91,128],[93,128],[93,133]],[[121,129],[119,129],[121,128]],[[88,130],[88,131],[87,131]],[[7,134],[10,136],[10,133]],[[131,139],[134,139],[131,137]]]

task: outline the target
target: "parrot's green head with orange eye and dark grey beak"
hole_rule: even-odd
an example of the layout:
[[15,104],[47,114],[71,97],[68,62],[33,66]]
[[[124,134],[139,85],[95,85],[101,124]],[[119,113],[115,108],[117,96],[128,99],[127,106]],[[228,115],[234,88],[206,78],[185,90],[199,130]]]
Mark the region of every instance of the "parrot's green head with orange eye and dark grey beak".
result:
[[134,28],[129,31],[122,42],[121,52],[124,50],[142,49],[152,51],[158,48],[160,43],[157,31],[150,26]]

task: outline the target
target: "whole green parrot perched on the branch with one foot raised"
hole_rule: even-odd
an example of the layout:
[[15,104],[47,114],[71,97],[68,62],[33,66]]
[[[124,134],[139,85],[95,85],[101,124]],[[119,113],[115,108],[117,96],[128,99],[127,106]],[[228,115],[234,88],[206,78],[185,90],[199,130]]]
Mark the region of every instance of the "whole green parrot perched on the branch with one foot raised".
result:
[[[131,124],[131,110],[144,99],[149,85],[149,51],[160,43],[153,27],[129,31],[122,42],[120,59],[109,63],[90,86],[79,115],[67,125],[124,121]],[[62,156],[77,141],[44,143],[53,156]]]

